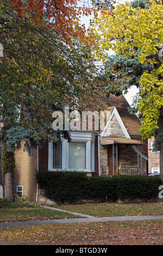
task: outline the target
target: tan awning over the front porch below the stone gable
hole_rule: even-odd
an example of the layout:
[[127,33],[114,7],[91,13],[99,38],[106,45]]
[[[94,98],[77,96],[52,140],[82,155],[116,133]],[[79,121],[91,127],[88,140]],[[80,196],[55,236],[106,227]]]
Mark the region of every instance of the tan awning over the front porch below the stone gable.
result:
[[106,138],[106,137],[102,137],[101,138],[101,141],[100,141],[100,144],[101,145],[108,145],[108,144],[115,144],[115,143],[118,143],[118,144],[139,144],[141,145],[142,142],[141,141],[135,141],[135,139],[127,139],[127,138]]

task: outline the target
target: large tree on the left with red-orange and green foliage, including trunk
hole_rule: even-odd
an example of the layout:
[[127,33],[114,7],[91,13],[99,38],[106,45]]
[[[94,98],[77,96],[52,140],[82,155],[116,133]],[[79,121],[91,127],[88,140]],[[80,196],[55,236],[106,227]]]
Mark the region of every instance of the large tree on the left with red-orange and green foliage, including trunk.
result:
[[[30,150],[45,139],[70,139],[52,129],[52,113],[97,94],[98,68],[93,37],[80,25],[90,8],[76,0],[2,0],[0,5],[0,139],[6,201],[14,200],[14,152]],[[98,5],[99,6],[99,5]],[[94,10],[98,8],[94,8]],[[98,83],[99,84],[99,81]]]

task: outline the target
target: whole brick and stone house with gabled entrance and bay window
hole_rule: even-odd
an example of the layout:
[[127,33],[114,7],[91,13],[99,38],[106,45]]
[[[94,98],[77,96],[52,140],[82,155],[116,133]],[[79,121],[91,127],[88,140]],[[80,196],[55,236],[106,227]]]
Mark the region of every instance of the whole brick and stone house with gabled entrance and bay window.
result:
[[139,118],[128,112],[129,104],[123,95],[111,95],[104,106],[100,119],[96,111],[82,112],[82,121],[79,115],[72,119],[70,143],[65,139],[57,144],[47,141],[30,155],[23,149],[16,151],[15,194],[47,203],[36,182],[40,170],[75,169],[89,176],[146,175],[148,143],[138,130]]

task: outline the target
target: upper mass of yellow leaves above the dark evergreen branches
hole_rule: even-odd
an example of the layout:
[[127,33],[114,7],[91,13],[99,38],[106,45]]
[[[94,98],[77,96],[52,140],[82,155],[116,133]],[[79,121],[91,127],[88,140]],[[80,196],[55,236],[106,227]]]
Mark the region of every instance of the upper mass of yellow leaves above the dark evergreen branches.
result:
[[[146,61],[149,54],[157,54],[158,38],[163,42],[163,6],[151,1],[149,9],[135,9],[129,3],[119,4],[112,15],[101,16],[96,20],[101,34],[102,48],[112,48],[124,56],[133,55],[134,48],[141,48],[139,61]],[[125,51],[125,53],[124,53]],[[149,59],[153,64],[153,60]]]

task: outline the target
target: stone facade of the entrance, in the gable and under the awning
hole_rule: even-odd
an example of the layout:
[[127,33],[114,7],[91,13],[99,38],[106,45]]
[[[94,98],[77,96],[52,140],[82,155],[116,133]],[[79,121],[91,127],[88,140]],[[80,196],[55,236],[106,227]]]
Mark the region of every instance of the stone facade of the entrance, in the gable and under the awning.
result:
[[[119,121],[121,124],[119,123]],[[126,138],[124,134],[124,127],[122,129],[122,121],[120,118],[117,120],[116,114],[112,115],[108,127],[103,134],[103,137],[109,138]],[[136,141],[142,141],[140,136],[131,138]],[[147,174],[148,164],[147,160],[143,159],[136,151],[131,147],[132,144],[112,144],[100,145],[100,169],[101,173],[103,170],[109,169],[109,175],[136,175],[136,174]],[[147,140],[143,140],[142,145],[136,145],[140,152],[148,155],[148,144]],[[110,159],[111,150],[115,150],[115,162],[114,165]],[[108,169],[107,169],[108,168]]]

